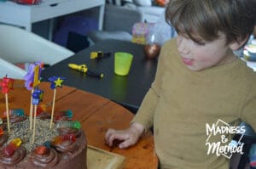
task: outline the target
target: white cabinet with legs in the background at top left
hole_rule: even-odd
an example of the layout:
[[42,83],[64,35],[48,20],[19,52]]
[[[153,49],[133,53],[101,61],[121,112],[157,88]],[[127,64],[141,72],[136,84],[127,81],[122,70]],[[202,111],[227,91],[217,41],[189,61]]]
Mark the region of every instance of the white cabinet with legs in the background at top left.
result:
[[1,2],[0,23],[17,25],[24,27],[27,31],[32,31],[32,23],[94,7],[100,8],[98,20],[99,30],[102,30],[105,0],[43,0],[37,5],[24,5],[11,1]]

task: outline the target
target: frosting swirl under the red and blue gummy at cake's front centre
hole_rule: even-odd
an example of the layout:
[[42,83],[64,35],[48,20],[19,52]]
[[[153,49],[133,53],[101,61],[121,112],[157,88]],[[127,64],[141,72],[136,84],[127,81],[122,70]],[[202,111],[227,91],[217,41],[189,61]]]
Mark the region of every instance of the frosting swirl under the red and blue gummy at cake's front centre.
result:
[[49,149],[49,152],[45,155],[38,155],[34,150],[30,154],[30,161],[35,166],[49,168],[55,166],[59,162],[59,158],[55,149]]

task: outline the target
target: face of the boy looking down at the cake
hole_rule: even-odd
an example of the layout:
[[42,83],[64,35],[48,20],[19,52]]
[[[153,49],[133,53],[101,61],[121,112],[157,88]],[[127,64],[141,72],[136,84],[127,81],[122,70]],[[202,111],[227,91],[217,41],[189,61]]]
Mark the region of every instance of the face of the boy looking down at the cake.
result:
[[236,59],[230,46],[226,45],[225,36],[222,33],[212,42],[194,42],[189,37],[177,35],[177,50],[183,64],[190,70],[204,70]]

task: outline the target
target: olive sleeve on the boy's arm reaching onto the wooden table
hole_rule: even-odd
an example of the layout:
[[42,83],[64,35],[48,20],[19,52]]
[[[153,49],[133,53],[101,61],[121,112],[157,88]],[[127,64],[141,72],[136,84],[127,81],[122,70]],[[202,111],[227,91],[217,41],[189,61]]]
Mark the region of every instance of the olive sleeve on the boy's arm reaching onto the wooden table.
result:
[[137,115],[135,115],[135,117],[131,121],[131,123],[137,122],[142,124],[146,130],[153,126],[154,110],[160,99],[162,76],[165,70],[165,65],[163,64],[166,55],[165,46],[166,45],[163,46],[160,52],[154,82],[152,83],[151,87],[148,90],[148,93],[143,99],[143,103],[141,104],[139,110],[137,111]]

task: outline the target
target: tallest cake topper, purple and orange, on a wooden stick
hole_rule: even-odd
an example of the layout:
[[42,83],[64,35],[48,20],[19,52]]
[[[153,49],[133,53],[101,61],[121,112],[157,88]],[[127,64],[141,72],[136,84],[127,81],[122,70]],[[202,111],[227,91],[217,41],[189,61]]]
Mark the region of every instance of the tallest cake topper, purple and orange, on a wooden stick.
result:
[[[36,62],[34,64],[29,65],[29,69],[24,76],[25,80],[25,87],[27,90],[31,90],[33,93],[34,87],[37,87],[40,83],[40,75],[41,70],[43,68],[42,62]],[[29,114],[29,128],[32,130],[32,97],[31,97],[31,104],[30,104],[30,114]]]

